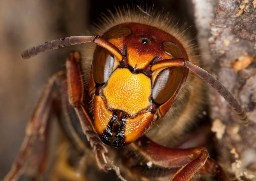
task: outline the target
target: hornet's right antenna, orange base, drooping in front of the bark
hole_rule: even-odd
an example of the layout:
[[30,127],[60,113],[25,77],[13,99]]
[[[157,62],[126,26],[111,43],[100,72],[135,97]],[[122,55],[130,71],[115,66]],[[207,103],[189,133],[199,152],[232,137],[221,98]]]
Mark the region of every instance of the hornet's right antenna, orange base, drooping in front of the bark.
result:
[[209,74],[206,70],[196,66],[195,64],[188,62],[184,58],[176,58],[176,59],[166,59],[156,62],[151,67],[151,71],[160,68],[167,67],[187,67],[192,72],[194,72],[201,79],[205,80],[208,84],[210,84],[219,94],[228,102],[228,104],[233,108],[233,110],[238,115],[239,119],[243,122],[245,126],[249,124],[249,120],[247,115],[235,98],[235,96],[222,84],[219,80],[217,80],[214,76]]

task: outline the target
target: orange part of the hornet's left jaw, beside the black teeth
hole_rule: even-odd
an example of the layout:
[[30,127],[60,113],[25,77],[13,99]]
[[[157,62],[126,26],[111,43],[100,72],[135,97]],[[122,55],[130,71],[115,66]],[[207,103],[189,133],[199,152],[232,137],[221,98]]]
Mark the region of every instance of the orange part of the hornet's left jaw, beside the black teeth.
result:
[[113,113],[107,110],[102,98],[94,96],[94,125],[98,134],[104,133],[112,116]]

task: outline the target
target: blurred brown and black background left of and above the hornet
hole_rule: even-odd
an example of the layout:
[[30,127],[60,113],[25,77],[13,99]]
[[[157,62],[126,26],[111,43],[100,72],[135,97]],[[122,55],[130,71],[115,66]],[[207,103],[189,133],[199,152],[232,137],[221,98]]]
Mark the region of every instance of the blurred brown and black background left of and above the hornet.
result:
[[[21,52],[45,41],[88,35],[100,13],[129,4],[154,4],[193,28],[190,0],[1,0],[0,1],[0,179],[10,170],[25,135],[25,127],[47,80],[65,69],[68,53],[82,46],[61,48],[23,60]],[[94,34],[90,34],[94,35]]]

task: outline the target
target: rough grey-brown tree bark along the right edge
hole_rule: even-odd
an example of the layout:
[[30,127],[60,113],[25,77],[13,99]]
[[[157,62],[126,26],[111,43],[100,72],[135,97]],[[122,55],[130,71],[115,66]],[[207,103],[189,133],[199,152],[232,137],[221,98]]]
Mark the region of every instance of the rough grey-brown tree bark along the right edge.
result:
[[[197,11],[199,2],[193,2]],[[248,127],[241,124],[224,98],[209,89],[210,117],[219,125],[215,131],[224,129],[216,139],[218,161],[238,180],[240,177],[253,180],[256,176],[252,167],[256,164],[256,1],[218,0],[217,5],[200,1],[203,2],[216,9],[210,24],[200,19],[200,13],[205,14],[200,12],[202,8],[195,12],[199,46],[206,49],[201,51],[202,57],[210,57],[204,60],[208,70],[238,98],[250,121]],[[204,18],[209,18],[209,14]],[[205,31],[209,36],[205,36]]]

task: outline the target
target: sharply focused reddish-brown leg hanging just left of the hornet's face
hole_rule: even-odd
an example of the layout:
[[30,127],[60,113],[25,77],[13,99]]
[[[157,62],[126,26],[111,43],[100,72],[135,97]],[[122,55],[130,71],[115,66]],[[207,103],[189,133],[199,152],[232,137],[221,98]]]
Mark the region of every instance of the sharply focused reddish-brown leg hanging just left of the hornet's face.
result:
[[100,169],[105,171],[111,170],[112,168],[108,164],[106,158],[108,150],[100,141],[100,138],[92,124],[92,118],[83,104],[84,85],[83,76],[80,70],[80,63],[81,55],[79,52],[72,52],[69,54],[66,64],[69,103],[74,106],[83,132],[87,136],[87,140],[91,143],[91,147],[96,154],[96,160]]

